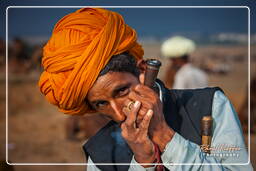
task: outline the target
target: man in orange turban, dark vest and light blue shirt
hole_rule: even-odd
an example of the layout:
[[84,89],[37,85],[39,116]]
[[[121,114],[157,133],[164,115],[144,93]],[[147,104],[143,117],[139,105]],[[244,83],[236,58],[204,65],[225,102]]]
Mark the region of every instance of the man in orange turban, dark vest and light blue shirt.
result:
[[[239,120],[221,90],[168,90],[157,81],[153,91],[143,85],[136,40],[119,14],[85,8],[62,18],[44,47],[39,86],[47,100],[67,114],[99,112],[112,120],[84,145],[87,169],[163,170],[155,163],[169,170],[252,169],[216,165],[247,162]],[[211,114],[212,145],[237,146],[238,158],[201,151],[200,120]]]

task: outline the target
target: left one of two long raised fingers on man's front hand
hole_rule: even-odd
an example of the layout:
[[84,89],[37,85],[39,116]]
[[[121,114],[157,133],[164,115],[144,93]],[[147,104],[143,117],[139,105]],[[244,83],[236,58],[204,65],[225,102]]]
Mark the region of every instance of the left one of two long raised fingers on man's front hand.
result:
[[127,114],[125,124],[128,127],[135,127],[135,121],[136,121],[137,113],[140,109],[140,105],[141,105],[141,102],[136,101],[135,104],[132,106],[130,113]]

